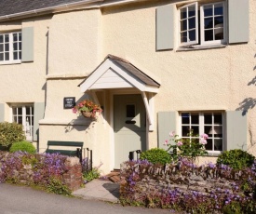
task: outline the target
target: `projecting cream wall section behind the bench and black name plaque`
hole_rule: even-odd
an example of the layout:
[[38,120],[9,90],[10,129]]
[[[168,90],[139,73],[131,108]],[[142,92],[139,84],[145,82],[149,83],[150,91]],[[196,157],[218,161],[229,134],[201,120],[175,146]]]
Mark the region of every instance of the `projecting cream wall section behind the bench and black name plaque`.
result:
[[75,97],[76,102],[91,98],[77,86],[101,63],[100,52],[99,9],[55,14],[50,20],[47,106],[40,121],[40,152],[46,150],[47,140],[84,141],[84,148],[93,151],[93,167],[102,163],[104,174],[114,166],[109,122],[101,117],[91,121],[63,109],[64,97]]

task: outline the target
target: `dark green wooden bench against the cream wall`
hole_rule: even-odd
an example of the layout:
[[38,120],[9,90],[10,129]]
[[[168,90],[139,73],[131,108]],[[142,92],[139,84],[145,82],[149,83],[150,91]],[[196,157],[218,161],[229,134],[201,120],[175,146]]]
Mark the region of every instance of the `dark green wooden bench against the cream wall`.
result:
[[[53,153],[60,153],[67,156],[77,156],[82,162],[82,150],[83,150],[84,142],[82,141],[59,141],[59,140],[48,140],[47,141],[47,150],[45,153],[47,154],[53,154]],[[49,147],[76,147],[76,150],[60,150],[58,149],[52,149]]]

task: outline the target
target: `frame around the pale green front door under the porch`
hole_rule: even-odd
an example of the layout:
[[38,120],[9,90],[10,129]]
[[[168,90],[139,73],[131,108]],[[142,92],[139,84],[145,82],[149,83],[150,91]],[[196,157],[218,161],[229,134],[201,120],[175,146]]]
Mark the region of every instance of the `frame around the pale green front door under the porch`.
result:
[[[111,151],[113,151],[113,154],[111,154],[111,156],[113,156],[112,158],[112,166],[113,168],[115,167],[115,131],[114,131],[114,95],[127,95],[127,94],[140,94],[141,95],[141,91],[138,90],[137,88],[128,88],[128,89],[120,89],[118,88],[117,90],[113,89],[110,90],[110,127],[112,128],[112,133],[111,133]],[[141,99],[142,95],[141,95]],[[144,105],[143,105],[144,106]],[[145,108],[145,106],[144,106]],[[146,112],[146,110],[145,110]],[[149,149],[149,142],[148,142],[148,135],[149,135],[149,124],[148,124],[148,119],[146,117],[146,149]]]

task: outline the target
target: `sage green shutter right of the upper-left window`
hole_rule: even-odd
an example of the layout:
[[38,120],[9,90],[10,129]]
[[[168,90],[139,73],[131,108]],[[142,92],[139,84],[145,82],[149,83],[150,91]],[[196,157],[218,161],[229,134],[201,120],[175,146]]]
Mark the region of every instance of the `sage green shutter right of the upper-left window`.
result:
[[22,28],[21,31],[21,61],[33,61],[34,60],[34,28]]

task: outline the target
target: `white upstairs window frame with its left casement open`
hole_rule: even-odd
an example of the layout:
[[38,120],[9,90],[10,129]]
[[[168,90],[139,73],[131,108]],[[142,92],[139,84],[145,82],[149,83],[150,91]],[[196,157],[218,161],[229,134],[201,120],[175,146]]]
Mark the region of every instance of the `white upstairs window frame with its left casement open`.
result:
[[[222,40],[212,40],[212,41],[204,41],[205,33],[204,33],[204,7],[210,6],[210,5],[217,5],[222,4],[223,7],[223,39]],[[186,42],[182,43],[181,41],[181,9],[182,8],[188,8],[195,5],[195,41],[192,42]],[[199,18],[198,18],[198,10],[200,9],[200,25],[199,25]],[[178,33],[179,33],[179,47],[201,47],[201,46],[209,46],[209,45],[224,45],[226,44],[227,40],[227,5],[225,1],[218,1],[218,2],[212,2],[209,4],[202,4],[198,6],[198,3],[192,3],[185,6],[182,6],[179,8],[179,24],[178,24]],[[188,26],[188,25],[187,25]],[[198,32],[200,30],[200,44],[199,44],[199,35]]]

